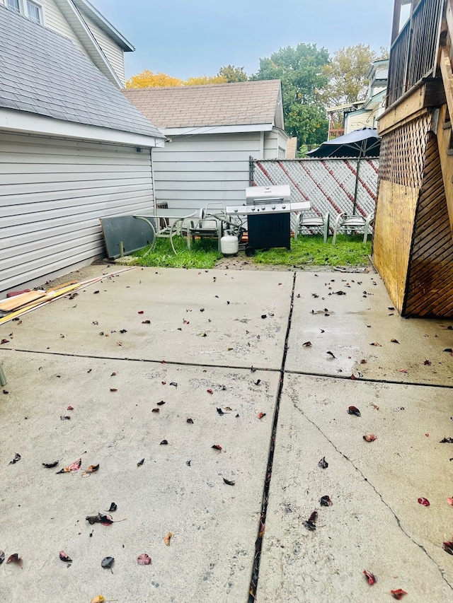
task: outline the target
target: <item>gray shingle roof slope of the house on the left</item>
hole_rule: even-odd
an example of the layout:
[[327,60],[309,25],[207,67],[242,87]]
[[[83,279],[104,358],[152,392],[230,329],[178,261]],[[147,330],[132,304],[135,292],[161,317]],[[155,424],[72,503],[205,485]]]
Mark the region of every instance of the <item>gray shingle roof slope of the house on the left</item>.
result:
[[163,134],[67,37],[0,4],[0,108],[67,122]]

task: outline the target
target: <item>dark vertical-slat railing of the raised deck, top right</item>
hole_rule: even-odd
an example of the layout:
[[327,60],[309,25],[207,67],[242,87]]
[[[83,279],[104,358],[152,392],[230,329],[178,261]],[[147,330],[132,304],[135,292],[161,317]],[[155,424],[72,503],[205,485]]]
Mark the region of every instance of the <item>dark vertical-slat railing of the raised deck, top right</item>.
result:
[[386,106],[435,69],[445,0],[420,0],[390,49]]

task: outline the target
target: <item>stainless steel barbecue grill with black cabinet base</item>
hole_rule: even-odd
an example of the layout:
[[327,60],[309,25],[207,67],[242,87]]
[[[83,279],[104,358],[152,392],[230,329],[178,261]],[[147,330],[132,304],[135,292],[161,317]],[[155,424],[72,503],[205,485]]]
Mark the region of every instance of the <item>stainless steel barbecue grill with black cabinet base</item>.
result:
[[290,213],[310,209],[309,201],[291,201],[288,185],[247,187],[246,204],[226,208],[229,216],[247,216],[246,254],[270,247],[291,248]]

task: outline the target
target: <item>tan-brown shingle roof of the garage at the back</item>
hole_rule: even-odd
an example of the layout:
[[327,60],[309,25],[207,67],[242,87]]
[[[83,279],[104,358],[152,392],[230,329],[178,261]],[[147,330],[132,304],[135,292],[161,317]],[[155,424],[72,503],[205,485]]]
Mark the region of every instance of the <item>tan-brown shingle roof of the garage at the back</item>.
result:
[[123,92],[159,128],[273,124],[280,80]]

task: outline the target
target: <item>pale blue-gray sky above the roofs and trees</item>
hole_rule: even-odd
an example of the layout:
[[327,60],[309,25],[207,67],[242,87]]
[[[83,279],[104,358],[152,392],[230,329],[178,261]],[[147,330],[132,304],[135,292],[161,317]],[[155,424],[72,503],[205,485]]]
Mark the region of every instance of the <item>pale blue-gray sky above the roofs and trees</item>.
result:
[[132,42],[126,76],[150,69],[213,76],[232,64],[256,73],[259,59],[299,42],[389,47],[394,0],[91,0]]

